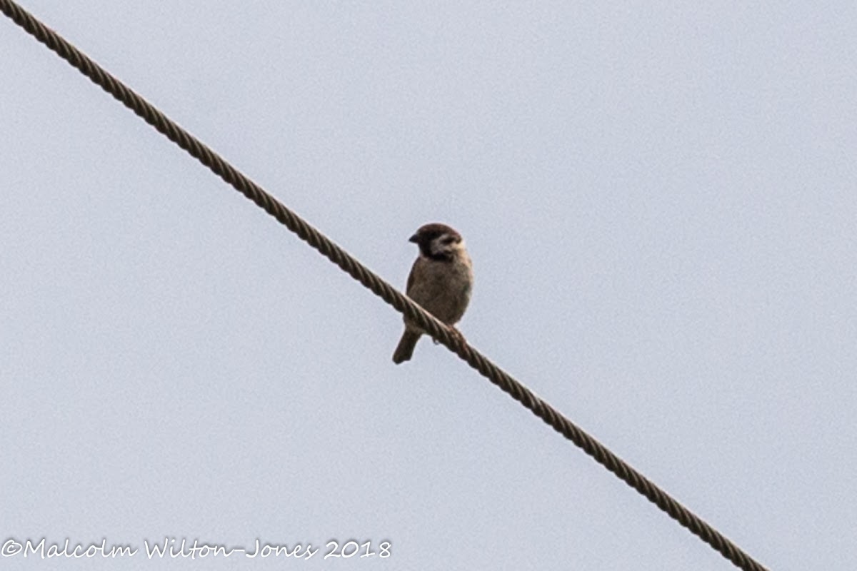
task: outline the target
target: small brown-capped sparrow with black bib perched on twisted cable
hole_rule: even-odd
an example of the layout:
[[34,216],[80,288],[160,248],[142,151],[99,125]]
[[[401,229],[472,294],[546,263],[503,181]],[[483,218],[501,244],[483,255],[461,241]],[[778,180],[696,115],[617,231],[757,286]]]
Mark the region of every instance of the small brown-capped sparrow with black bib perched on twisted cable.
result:
[[[427,312],[452,327],[470,301],[473,265],[461,235],[446,224],[426,224],[412,235],[420,253],[411,267],[405,293]],[[411,359],[425,331],[405,318],[405,333],[393,353],[397,365]],[[460,336],[461,334],[456,333]]]

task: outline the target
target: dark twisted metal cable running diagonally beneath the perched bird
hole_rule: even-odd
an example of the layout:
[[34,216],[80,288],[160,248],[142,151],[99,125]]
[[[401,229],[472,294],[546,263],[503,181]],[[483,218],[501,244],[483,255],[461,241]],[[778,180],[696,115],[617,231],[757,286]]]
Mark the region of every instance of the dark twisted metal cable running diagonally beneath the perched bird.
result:
[[578,448],[583,449],[586,454],[590,455],[598,463],[626,482],[627,485],[630,485],[634,490],[648,498],[651,503],[654,503],[671,518],[697,535],[730,562],[733,562],[736,567],[745,571],[765,571],[765,568],[760,563],[752,559],[751,556],[747,555],[736,544],[723,536],[722,533],[717,532],[716,529],[696,514],[693,514],[689,509],[686,509],[686,507],[673,497],[669,496],[667,492],[662,491],[657,485],[645,478],[643,474],[638,473],[625,461],[621,460],[619,456],[614,455],[602,443],[591,437],[571,420],[566,419],[554,407],[542,401],[541,398],[536,396],[523,384],[502,371],[498,366],[495,366],[484,355],[480,354],[476,349],[471,348],[463,339],[452,334],[451,330],[445,324],[442,324],[434,316],[423,310],[422,307],[417,306],[417,304],[405,295],[399,293],[396,288],[393,288],[389,283],[382,280],[381,277],[376,276],[374,272],[369,271],[366,266],[358,262],[357,259],[352,258],[349,253],[346,253],[345,250],[337,246],[327,236],[322,235],[321,232],[297,216],[295,212],[282,205],[277,199],[274,199],[273,196],[265,192],[254,181],[251,181],[223,158],[220,158],[217,153],[203,145],[194,136],[179,127],[177,123],[168,119],[163,113],[155,109],[152,104],[149,104],[145,99],[129,89],[128,86],[123,85],[121,81],[108,74],[97,63],[85,56],[81,51],[78,51],[53,30],[45,27],[44,24],[36,20],[33,15],[22,9],[17,3],[12,2],[12,0],[0,0],[0,10],[12,21],[15,21],[18,26],[27,31],[27,33],[39,40],[39,42],[46,45],[52,51],[55,51],[59,57],[62,57],[75,68],[79,69],[93,83],[100,86],[105,92],[110,93],[114,98],[117,98],[130,110],[133,110],[136,115],[140,116],[160,133],[165,134],[169,140],[182,147],[192,157],[206,165],[209,170],[212,170],[214,174],[229,183],[231,187],[234,187],[238,192],[252,200],[256,205],[276,218],[279,223],[284,224],[286,228],[297,234],[301,240],[307,242],[309,246],[314,247],[327,259],[330,259],[333,264],[338,265],[339,268],[346,271],[351,277],[362,283],[363,286],[369,288],[373,293],[381,297],[382,300],[387,301],[397,311],[403,313],[405,317],[418,324],[429,335],[457,354],[462,360],[476,369],[476,371],[480,372],[483,377],[488,378],[491,383],[497,385],[500,390],[512,396],[513,399],[528,408],[538,418],[554,428],[555,431],[560,432],[564,437],[571,440]]

